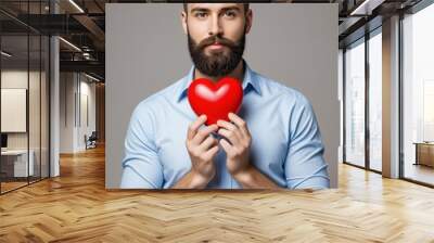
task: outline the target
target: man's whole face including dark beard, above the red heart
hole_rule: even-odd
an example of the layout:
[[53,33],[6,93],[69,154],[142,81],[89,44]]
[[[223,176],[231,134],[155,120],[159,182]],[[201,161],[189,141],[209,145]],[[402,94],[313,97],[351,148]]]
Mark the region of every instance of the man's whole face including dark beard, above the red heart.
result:
[[241,61],[252,12],[242,3],[191,3],[182,13],[195,67],[210,77],[231,73]]

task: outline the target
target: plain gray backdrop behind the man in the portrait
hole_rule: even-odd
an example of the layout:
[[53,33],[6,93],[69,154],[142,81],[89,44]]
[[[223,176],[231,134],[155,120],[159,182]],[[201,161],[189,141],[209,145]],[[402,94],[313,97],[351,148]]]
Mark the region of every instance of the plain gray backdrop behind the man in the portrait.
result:
[[[106,5],[105,187],[119,188],[124,140],[136,105],[183,77],[192,63],[181,4]],[[337,187],[337,4],[257,3],[244,59],[275,80],[301,90],[312,103]]]

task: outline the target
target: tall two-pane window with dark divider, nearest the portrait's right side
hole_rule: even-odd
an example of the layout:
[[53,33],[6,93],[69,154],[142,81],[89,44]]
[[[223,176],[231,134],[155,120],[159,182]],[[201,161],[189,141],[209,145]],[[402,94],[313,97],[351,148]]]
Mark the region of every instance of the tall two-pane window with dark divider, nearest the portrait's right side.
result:
[[[345,49],[344,73],[344,161],[381,172],[383,80],[381,26]],[[367,131],[369,133],[366,133]]]

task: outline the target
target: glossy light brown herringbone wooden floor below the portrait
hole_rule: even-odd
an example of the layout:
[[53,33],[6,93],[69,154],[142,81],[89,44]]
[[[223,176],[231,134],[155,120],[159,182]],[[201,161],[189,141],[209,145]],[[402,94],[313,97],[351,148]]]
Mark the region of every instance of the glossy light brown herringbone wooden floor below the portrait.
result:
[[323,191],[106,191],[104,151],[0,196],[0,242],[434,242],[434,190],[340,166]]

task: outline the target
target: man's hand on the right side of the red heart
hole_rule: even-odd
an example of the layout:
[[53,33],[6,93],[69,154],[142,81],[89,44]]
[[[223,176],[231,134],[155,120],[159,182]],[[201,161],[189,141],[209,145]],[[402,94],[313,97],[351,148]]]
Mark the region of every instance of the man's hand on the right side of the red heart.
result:
[[225,139],[220,140],[220,144],[226,151],[227,163],[226,166],[229,172],[235,177],[240,172],[245,172],[250,167],[250,149],[252,137],[247,128],[247,124],[233,113],[229,113],[229,119],[218,120],[217,125],[220,127],[218,133],[224,136]]

